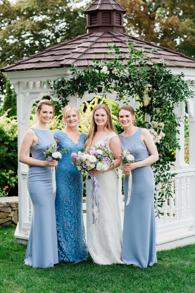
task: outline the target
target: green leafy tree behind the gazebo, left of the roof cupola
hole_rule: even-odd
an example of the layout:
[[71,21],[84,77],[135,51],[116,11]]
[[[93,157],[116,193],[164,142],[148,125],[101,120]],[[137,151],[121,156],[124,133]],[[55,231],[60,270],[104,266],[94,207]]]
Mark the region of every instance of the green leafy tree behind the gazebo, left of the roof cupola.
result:
[[[86,33],[77,0],[0,1],[0,64],[7,66]],[[0,91],[5,78],[0,75]]]

